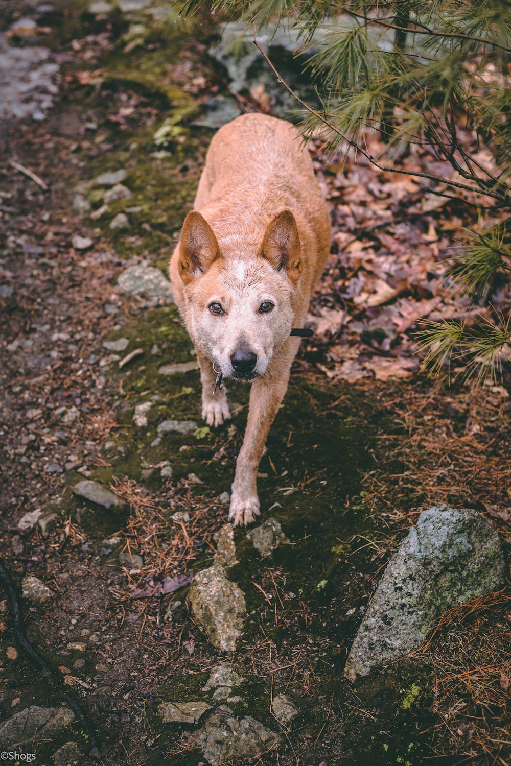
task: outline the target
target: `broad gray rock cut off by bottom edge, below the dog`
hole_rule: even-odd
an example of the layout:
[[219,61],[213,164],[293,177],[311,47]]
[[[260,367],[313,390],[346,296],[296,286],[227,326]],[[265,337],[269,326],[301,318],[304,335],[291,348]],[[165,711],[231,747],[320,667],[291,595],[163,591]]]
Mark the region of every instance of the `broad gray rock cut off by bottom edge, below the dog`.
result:
[[266,753],[281,741],[279,735],[250,715],[237,721],[231,715],[220,713],[210,715],[193,736],[211,766],[233,761],[245,763],[245,759]]

